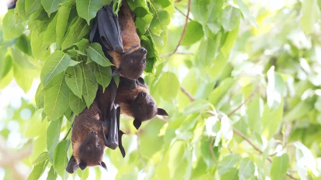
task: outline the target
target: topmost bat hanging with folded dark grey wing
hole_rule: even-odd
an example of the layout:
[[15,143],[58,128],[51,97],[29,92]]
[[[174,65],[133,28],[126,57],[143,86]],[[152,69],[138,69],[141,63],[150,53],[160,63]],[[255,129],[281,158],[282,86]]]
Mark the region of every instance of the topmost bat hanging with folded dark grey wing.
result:
[[146,66],[147,50],[140,46],[136,32],[135,14],[126,0],[122,0],[118,17],[113,2],[97,12],[90,32],[90,41],[101,44],[105,56],[117,67],[112,76],[120,74],[129,79],[140,77]]

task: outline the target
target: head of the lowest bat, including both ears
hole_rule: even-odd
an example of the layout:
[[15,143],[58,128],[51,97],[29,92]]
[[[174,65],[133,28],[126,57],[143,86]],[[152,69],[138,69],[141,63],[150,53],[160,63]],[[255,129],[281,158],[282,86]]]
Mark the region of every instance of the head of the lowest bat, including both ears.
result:
[[67,172],[73,173],[78,167],[84,170],[87,166],[95,165],[107,169],[106,164],[102,161],[104,144],[100,143],[97,131],[90,131],[76,150],[78,151],[77,160],[74,155],[70,157],[66,167]]

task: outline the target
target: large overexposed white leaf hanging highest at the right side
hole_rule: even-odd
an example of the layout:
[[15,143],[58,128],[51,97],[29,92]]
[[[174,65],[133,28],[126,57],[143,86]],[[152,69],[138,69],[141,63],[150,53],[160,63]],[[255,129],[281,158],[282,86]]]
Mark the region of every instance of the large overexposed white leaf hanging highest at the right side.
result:
[[285,84],[281,75],[274,72],[274,66],[267,71],[266,96],[270,109],[276,109],[281,103]]

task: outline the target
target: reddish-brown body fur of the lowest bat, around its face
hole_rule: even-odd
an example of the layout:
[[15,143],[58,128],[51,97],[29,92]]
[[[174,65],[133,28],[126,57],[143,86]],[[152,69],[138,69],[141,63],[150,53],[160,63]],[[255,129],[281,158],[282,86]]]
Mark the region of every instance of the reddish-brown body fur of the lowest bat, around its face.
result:
[[[71,134],[73,155],[76,161],[79,163],[79,146],[88,136],[90,131],[97,131],[101,144],[104,144],[103,134],[101,133],[101,122],[99,121],[101,112],[98,108],[97,101],[95,100],[89,108],[85,108],[79,116],[74,119],[74,125]],[[108,129],[104,128],[104,132],[108,134]],[[104,149],[106,146],[104,146]],[[102,160],[102,159],[101,159]],[[93,166],[93,162],[87,162],[88,166]]]

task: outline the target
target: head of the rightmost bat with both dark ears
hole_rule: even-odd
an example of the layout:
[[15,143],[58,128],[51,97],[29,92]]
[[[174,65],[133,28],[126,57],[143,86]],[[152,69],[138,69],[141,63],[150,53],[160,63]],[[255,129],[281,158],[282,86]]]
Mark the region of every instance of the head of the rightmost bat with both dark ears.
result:
[[134,126],[139,128],[142,121],[153,118],[158,115],[169,115],[166,110],[158,108],[152,96],[145,91],[138,92],[135,99],[130,104],[130,109],[135,117]]

